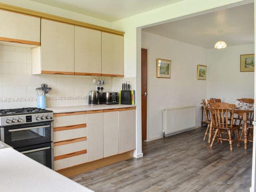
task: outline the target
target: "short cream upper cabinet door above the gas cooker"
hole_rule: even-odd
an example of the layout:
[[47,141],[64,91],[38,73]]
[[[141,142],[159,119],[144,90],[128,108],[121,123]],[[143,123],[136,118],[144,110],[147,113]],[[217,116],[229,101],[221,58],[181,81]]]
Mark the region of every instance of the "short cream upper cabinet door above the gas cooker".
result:
[[0,40],[40,44],[40,18],[0,10],[0,26]]

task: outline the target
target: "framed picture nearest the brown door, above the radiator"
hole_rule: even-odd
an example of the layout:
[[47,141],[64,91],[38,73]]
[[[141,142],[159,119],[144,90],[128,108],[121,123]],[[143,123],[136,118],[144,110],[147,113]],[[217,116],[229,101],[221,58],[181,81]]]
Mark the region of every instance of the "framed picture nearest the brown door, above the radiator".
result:
[[171,60],[156,59],[156,77],[171,78]]

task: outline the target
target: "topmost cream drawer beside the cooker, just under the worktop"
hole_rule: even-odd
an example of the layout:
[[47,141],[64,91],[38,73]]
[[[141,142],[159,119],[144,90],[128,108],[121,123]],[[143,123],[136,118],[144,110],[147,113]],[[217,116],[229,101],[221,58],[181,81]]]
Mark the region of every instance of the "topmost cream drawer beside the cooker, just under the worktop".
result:
[[86,112],[54,114],[54,127],[78,125],[86,123]]

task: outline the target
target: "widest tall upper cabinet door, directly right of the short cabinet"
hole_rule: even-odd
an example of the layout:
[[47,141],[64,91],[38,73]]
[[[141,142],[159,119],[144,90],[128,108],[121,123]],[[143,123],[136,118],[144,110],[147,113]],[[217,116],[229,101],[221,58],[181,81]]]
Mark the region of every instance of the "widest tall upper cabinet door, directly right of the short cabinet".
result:
[[74,25],[41,20],[42,73],[74,74]]

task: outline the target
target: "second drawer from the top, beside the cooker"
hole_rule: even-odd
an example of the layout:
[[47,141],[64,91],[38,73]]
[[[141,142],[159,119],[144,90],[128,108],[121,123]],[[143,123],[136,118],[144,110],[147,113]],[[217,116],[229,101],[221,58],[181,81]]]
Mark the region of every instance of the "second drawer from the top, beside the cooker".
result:
[[86,137],[86,124],[54,128],[54,142],[82,137]]

